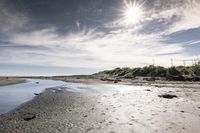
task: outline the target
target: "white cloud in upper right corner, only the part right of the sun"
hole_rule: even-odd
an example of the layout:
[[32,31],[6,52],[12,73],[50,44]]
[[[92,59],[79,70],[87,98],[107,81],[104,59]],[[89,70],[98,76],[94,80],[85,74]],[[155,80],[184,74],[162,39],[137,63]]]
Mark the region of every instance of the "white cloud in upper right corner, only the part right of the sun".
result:
[[156,20],[166,24],[165,30],[161,31],[160,34],[169,35],[200,27],[199,0],[158,0],[157,2],[159,8],[150,9],[144,22]]

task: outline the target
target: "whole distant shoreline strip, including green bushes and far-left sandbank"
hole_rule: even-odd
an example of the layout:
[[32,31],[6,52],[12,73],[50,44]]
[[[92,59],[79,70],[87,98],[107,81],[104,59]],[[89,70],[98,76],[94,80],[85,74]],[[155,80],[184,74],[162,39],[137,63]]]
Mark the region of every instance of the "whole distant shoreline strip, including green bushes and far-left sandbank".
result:
[[135,85],[162,84],[166,86],[166,84],[195,84],[200,82],[200,64],[192,66],[172,66],[169,68],[153,65],[137,68],[118,67],[92,75],[0,77],[0,86],[23,83],[27,78],[82,83],[124,84],[126,82]]

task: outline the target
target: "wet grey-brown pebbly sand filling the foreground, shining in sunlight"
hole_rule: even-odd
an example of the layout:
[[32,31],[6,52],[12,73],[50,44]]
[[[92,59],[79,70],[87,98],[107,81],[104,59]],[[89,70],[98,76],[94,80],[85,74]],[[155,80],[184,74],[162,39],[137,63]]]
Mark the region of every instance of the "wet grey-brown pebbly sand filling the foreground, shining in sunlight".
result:
[[[91,84],[91,83],[90,83]],[[197,133],[200,87],[51,88],[0,117],[2,133]],[[184,85],[183,85],[184,86]],[[109,89],[110,88],[110,89]],[[177,98],[166,99],[161,94]]]

